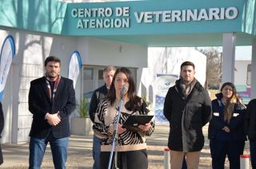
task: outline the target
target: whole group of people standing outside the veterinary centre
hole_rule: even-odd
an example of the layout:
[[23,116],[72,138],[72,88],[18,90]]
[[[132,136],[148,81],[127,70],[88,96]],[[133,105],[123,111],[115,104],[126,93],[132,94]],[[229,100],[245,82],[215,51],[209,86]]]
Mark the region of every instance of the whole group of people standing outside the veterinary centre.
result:
[[[60,59],[47,57],[45,76],[30,82],[29,110],[33,114],[30,169],[41,167],[48,143],[54,167],[66,168],[69,116],[76,101],[73,82],[61,77],[60,70]],[[209,123],[208,139],[214,169],[224,169],[226,156],[231,169],[240,168],[240,155],[247,138],[250,140],[251,165],[256,169],[256,100],[243,104],[230,82],[223,83],[216,99],[210,100],[209,93],[194,77],[194,70],[194,63],[183,62],[180,78],[166,93],[163,114],[170,122],[170,167],[198,168],[205,142],[202,127]],[[147,108],[146,101],[136,95],[130,69],[106,66],[102,78],[105,85],[97,88],[90,100],[90,119],[94,123],[93,168],[146,169],[146,137],[154,132],[154,118],[132,128],[126,128],[124,124],[130,116],[153,113]],[[0,112],[1,133],[1,103]]]

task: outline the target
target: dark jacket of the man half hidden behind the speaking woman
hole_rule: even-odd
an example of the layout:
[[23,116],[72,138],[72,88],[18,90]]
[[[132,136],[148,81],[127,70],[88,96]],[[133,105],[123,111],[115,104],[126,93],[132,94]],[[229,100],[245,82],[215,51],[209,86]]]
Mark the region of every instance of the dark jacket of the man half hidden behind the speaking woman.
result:
[[98,104],[100,100],[102,100],[106,96],[107,92],[108,92],[108,89],[106,88],[106,85],[102,85],[102,87],[94,90],[94,94],[93,96],[91,96],[89,114],[90,114],[90,120],[93,123],[94,123],[94,116],[95,116],[95,112],[98,107]]

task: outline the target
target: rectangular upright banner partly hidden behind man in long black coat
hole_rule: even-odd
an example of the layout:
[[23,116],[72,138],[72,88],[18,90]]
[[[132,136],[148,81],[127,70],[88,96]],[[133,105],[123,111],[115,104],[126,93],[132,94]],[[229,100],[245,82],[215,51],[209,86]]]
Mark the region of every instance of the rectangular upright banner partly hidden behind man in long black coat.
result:
[[157,74],[157,93],[155,96],[154,116],[156,124],[169,124],[163,115],[163,105],[166,99],[166,93],[169,88],[175,85],[178,75],[175,74]]

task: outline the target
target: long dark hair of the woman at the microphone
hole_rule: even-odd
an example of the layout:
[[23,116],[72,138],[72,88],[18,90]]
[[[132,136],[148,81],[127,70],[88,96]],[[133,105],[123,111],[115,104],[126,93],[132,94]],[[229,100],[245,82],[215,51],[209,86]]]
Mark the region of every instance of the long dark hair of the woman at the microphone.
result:
[[127,80],[128,80],[128,83],[129,83],[127,96],[129,98],[129,101],[126,104],[126,109],[129,108],[128,110],[133,110],[134,105],[137,105],[138,102],[140,102],[140,100],[138,100],[138,98],[139,98],[138,96],[135,96],[136,87],[135,87],[134,79],[132,77],[130,69],[122,67],[122,68],[119,68],[115,71],[112,83],[110,85],[110,91],[108,92],[106,97],[108,98],[108,100],[110,100],[110,104],[113,105],[115,100],[116,100],[116,95],[115,95],[116,91],[115,91],[115,88],[114,88],[114,81],[115,81],[115,78],[117,77],[118,73],[124,73],[127,77]]

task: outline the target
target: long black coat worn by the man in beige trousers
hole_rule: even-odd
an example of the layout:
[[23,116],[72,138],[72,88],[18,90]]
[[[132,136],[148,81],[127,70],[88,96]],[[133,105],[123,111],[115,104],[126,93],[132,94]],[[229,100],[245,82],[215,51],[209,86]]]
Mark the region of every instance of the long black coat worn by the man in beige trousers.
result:
[[204,145],[202,127],[212,116],[210,96],[197,81],[186,98],[180,80],[169,88],[163,113],[170,122],[168,147],[174,151],[200,151]]

